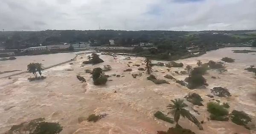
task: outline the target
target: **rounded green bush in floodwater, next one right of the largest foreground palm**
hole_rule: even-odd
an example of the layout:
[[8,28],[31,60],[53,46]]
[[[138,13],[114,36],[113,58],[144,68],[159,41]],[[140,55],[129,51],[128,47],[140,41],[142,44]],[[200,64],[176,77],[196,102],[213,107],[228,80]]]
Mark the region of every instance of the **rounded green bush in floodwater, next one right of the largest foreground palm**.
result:
[[207,110],[211,113],[211,120],[228,121],[227,115],[229,114],[227,108],[219,103],[210,102],[207,103]]

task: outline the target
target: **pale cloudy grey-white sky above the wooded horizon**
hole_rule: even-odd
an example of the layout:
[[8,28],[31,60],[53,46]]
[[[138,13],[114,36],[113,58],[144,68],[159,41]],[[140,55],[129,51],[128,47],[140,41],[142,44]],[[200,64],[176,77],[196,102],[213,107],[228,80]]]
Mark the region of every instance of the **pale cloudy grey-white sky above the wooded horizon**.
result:
[[256,0],[0,0],[4,31],[256,29]]

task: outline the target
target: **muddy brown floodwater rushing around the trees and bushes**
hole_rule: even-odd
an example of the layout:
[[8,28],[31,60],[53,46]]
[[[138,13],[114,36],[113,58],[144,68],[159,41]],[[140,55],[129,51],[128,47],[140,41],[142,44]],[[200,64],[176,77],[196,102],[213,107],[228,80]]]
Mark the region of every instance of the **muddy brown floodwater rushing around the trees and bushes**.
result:
[[[33,77],[33,74],[29,73],[13,76],[10,80],[8,78],[0,79],[0,133],[9,130],[12,125],[45,117],[47,121],[59,122],[64,127],[61,134],[156,134],[157,131],[166,131],[175,124],[154,118],[154,113],[162,111],[166,114],[168,112],[166,106],[170,100],[183,98],[189,92],[196,92],[203,98],[204,106],[195,106],[186,102],[189,104],[187,109],[199,121],[204,120],[204,124],[202,124],[204,130],[199,130],[196,125],[182,117],[179,121],[181,126],[191,129],[196,134],[254,134],[255,131],[249,131],[230,121],[207,120],[209,113],[206,105],[212,101],[212,98],[206,97],[206,95],[210,94],[211,88],[222,86],[230,90],[232,97],[214,97],[215,100],[229,103],[230,112],[236,109],[250,114],[253,117],[253,123],[255,123],[256,79],[254,79],[253,73],[247,72],[244,68],[250,65],[256,66],[256,53],[235,54],[232,52],[232,50],[242,49],[249,50],[251,48],[222,48],[209,51],[200,57],[178,60],[184,66],[196,66],[197,60],[201,60],[203,63],[209,60],[220,61],[222,57],[231,57],[236,60],[234,63],[226,64],[228,71],[223,74],[209,70],[208,74],[204,75],[209,86],[204,89],[190,90],[163,77],[166,74],[172,74],[175,78],[184,80],[187,75],[173,72],[183,71],[184,68],[170,68],[171,71],[168,72],[166,70],[168,68],[164,66],[153,67],[158,72],[152,74],[157,78],[167,80],[170,84],[155,85],[146,80],[148,74],[145,72],[141,77],[133,78],[131,73],[139,72],[137,68],[145,66],[142,65],[144,60],[142,57],[131,57],[131,60],[124,60],[124,56],[111,57],[108,55],[100,55],[105,61],[104,63],[82,66],[82,61],[86,59],[87,55],[81,54],[75,61],[70,62],[73,65],[66,63],[43,71],[43,75],[47,79],[42,81],[29,82],[27,78]],[[73,58],[73,56],[74,54],[68,59]],[[61,59],[61,57],[56,58]],[[55,57],[51,58],[38,56],[32,61],[41,63],[42,60],[45,60],[44,65],[49,65],[55,59]],[[26,60],[26,58],[23,59]],[[22,65],[25,67],[21,68],[26,68],[27,63],[23,63],[24,60],[17,59],[15,65]],[[48,60],[51,62],[48,63]],[[130,61],[133,63],[130,63],[131,67],[128,67],[127,64]],[[12,65],[8,62],[13,61],[6,61],[5,65]],[[112,76],[108,79],[113,81],[108,81],[105,86],[94,86],[90,78],[91,75],[86,74],[84,69],[103,67],[107,64],[112,66],[112,70],[106,74],[120,74],[124,77]],[[134,64],[140,64],[140,67],[132,66]],[[3,68],[2,64],[1,67]],[[8,70],[15,70],[16,68],[16,66],[9,66]],[[132,68],[133,71],[123,72],[126,68]],[[66,71],[67,69],[74,70]],[[77,80],[77,74],[84,77],[86,83]],[[212,76],[219,78],[212,79]],[[115,91],[116,93],[114,93]],[[10,109],[4,110],[6,108]],[[200,115],[192,109],[198,110]],[[96,123],[87,121],[78,123],[78,117],[101,113],[105,113],[107,116]]]

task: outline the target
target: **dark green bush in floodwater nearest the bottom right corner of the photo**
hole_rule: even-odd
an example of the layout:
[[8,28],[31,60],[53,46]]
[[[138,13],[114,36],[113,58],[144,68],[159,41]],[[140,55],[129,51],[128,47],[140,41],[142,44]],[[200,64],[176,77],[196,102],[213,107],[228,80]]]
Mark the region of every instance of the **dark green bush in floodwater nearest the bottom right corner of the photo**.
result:
[[252,119],[249,117],[248,114],[244,113],[243,111],[233,110],[230,118],[233,123],[236,123],[237,125],[243,125],[245,128],[250,129],[247,127],[247,123],[251,122]]

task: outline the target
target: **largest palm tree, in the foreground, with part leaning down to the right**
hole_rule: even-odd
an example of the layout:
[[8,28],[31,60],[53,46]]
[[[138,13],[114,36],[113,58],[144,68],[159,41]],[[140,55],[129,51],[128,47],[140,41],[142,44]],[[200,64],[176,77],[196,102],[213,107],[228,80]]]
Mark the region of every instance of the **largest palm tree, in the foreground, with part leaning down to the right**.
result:
[[189,119],[190,121],[192,121],[193,123],[195,123],[195,125],[198,126],[198,128],[200,130],[203,130],[203,127],[201,126],[201,124],[199,123],[199,121],[192,115],[190,114],[190,112],[188,110],[186,110],[184,107],[187,107],[188,105],[186,105],[184,103],[184,100],[181,99],[175,99],[175,100],[171,100],[173,104],[169,104],[167,107],[167,109],[170,109],[171,111],[168,112],[168,114],[172,114],[174,116],[174,120],[178,125],[178,121],[180,120],[180,115],[182,117],[186,117],[187,119]]

